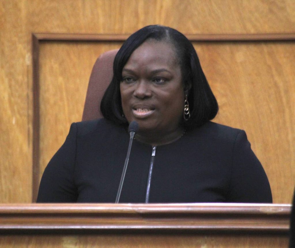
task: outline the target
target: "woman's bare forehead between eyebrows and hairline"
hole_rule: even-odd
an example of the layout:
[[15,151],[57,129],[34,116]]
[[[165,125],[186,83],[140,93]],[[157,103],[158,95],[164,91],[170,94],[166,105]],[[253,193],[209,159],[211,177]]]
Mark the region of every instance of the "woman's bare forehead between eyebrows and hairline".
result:
[[153,65],[177,65],[178,60],[174,45],[167,41],[147,40],[132,52],[124,68],[149,63]]

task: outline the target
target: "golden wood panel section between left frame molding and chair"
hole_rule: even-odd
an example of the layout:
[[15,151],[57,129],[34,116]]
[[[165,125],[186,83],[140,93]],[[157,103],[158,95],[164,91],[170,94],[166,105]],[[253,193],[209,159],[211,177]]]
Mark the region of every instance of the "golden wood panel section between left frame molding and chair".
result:
[[71,123],[81,121],[91,69],[97,57],[122,42],[41,42],[40,178],[65,141]]

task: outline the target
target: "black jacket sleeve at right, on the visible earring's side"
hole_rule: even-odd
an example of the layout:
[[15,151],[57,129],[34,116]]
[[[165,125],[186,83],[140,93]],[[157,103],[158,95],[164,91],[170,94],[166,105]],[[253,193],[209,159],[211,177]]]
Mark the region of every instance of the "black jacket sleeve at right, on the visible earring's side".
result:
[[237,134],[233,147],[228,202],[272,203],[266,173],[242,130]]

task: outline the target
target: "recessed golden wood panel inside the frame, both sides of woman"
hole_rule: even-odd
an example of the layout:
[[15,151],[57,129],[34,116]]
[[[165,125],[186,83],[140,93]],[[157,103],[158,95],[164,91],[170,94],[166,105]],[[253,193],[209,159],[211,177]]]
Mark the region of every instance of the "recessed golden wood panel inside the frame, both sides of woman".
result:
[[[119,47],[113,42],[108,44],[105,50]],[[113,48],[110,47],[112,44]],[[194,45],[219,102],[220,111],[214,121],[246,131],[252,149],[268,175],[273,202],[291,202],[295,183],[295,112],[292,107],[295,106],[295,55],[292,52],[295,44],[278,41],[194,42]],[[91,42],[45,42],[42,45],[40,177],[62,145],[71,122],[81,119],[87,87],[85,78],[90,74],[92,61],[87,71],[79,69],[80,60],[84,59],[83,65],[86,66],[93,52],[102,52],[103,46],[106,44]],[[47,50],[42,50],[45,47]],[[74,51],[73,47],[80,48]],[[75,55],[70,56],[71,52]],[[56,55],[59,59],[55,57],[55,61],[49,63]],[[93,61],[95,59],[96,56]],[[54,67],[54,64],[61,67]],[[65,66],[68,64],[72,67]],[[73,109],[69,110],[70,107]]]

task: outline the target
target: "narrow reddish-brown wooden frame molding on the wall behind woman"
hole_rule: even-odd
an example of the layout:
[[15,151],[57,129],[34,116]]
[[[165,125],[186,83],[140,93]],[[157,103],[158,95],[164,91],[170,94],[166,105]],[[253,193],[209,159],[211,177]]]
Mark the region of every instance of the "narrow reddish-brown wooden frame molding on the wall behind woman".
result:
[[[39,159],[40,159],[40,91],[39,91],[39,47],[42,41],[124,41],[130,34],[59,34],[59,33],[33,33],[33,175],[32,175],[32,201],[35,202],[38,193]],[[286,34],[187,34],[191,42],[269,42],[269,41],[295,41],[295,33]]]

